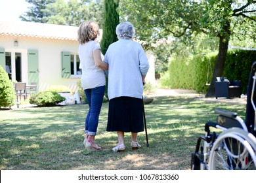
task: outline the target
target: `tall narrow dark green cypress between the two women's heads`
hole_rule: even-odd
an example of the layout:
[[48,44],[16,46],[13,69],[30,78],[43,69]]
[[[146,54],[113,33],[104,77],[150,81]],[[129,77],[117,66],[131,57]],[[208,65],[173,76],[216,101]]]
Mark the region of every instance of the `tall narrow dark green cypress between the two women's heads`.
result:
[[103,35],[100,47],[102,54],[106,53],[108,46],[117,41],[116,26],[119,24],[119,15],[117,13],[118,0],[104,0],[103,5]]

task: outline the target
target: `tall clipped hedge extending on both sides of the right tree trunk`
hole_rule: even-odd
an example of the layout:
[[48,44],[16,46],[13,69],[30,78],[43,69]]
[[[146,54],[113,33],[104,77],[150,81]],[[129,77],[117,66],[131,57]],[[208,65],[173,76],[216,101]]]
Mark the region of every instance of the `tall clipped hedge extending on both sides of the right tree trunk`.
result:
[[[205,93],[209,87],[207,83],[211,82],[211,71],[213,72],[216,58],[217,52],[186,59],[173,58],[169,63],[168,71],[160,78],[161,85]],[[227,77],[228,80],[241,80],[242,93],[246,93],[249,71],[254,61],[256,61],[256,52],[253,50],[228,51],[223,77]]]

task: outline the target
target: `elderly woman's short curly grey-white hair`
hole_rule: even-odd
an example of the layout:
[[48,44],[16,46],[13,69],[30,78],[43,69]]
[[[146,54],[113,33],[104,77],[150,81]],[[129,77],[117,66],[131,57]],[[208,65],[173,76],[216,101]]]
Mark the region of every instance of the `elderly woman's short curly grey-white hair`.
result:
[[135,29],[131,22],[121,22],[116,26],[118,39],[132,39],[135,36]]

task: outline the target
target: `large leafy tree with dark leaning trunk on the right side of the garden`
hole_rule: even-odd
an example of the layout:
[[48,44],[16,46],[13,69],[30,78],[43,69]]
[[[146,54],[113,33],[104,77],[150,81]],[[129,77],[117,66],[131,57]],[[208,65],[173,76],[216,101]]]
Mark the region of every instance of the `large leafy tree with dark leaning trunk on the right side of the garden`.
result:
[[[150,45],[169,36],[191,40],[192,33],[219,38],[219,54],[206,97],[215,94],[215,78],[223,74],[230,38],[255,39],[256,1],[233,0],[120,0],[119,14],[137,27],[138,38]],[[191,43],[191,42],[190,42]]]

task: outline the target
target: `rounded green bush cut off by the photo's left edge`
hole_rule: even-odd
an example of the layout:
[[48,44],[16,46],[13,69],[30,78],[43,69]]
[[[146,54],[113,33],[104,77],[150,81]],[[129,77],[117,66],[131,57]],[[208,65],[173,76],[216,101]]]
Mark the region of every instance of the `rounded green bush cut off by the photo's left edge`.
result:
[[15,96],[12,81],[0,65],[0,108],[14,105]]

